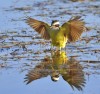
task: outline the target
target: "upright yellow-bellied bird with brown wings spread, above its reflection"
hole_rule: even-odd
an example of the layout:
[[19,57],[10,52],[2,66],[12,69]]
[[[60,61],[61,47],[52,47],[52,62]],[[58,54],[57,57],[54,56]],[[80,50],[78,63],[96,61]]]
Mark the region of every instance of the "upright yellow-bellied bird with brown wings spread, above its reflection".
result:
[[60,49],[65,48],[67,41],[75,42],[78,40],[84,31],[84,22],[80,19],[80,16],[71,18],[65,22],[62,26],[58,20],[52,21],[51,25],[45,22],[38,21],[33,18],[28,18],[27,23],[44,39],[51,39],[51,44],[57,46]]

